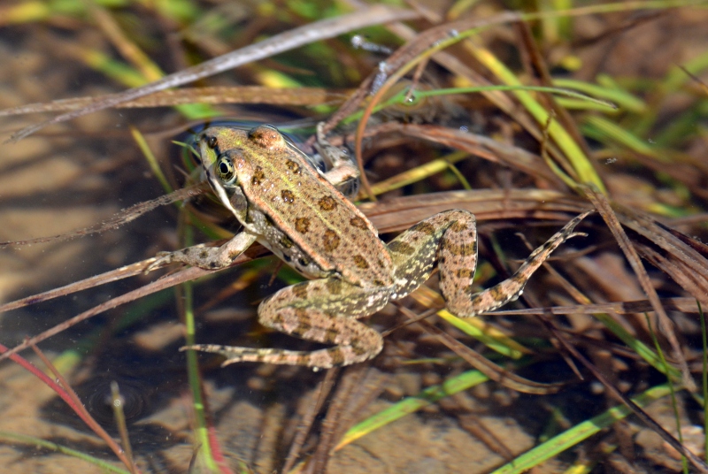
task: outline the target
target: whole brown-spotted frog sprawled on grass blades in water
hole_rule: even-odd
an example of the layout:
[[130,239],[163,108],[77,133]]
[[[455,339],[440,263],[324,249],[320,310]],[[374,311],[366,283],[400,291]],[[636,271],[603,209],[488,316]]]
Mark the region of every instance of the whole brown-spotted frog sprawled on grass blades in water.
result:
[[330,169],[312,167],[303,151],[275,126],[249,131],[210,126],[198,135],[206,180],[242,231],[221,245],[198,245],[160,256],[219,270],[233,264],[258,241],[307,280],[284,287],[258,306],[258,321],[281,333],[327,345],[312,351],[196,344],[199,350],[237,362],[275,363],[313,370],[362,363],[383,348],[383,338],[360,319],[411,294],[439,271],[447,310],[475,317],[516,300],[528,279],[589,212],[573,218],[519,270],[493,287],[475,292],[476,220],[468,210],[444,210],[385,243],[366,215],[338,190],[358,180],[358,167],[329,144],[318,128],[319,148]]

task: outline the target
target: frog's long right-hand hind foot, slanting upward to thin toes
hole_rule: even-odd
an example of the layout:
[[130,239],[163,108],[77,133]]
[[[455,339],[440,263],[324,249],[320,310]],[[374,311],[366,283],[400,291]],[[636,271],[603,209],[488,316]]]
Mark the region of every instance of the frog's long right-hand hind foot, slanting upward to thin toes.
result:
[[[528,279],[530,279],[531,275],[546,261],[553,250],[568,239],[587,235],[586,233],[573,232],[573,229],[591,212],[593,212],[593,210],[583,212],[580,216],[573,218],[573,220],[568,222],[558,233],[555,233],[546,243],[536,248],[511,278],[505,279],[501,283],[496,284],[494,287],[487,288],[481,293],[473,294],[472,298],[468,296],[468,292],[461,291],[463,289],[462,287],[458,287],[458,291],[450,291],[449,288],[443,287],[443,283],[441,283],[443,292],[447,296],[447,306],[450,311],[458,317],[473,317],[480,313],[496,310],[504,306],[507,302],[516,301],[521,293],[523,293]],[[443,246],[443,248],[445,247]],[[448,246],[447,248],[450,249],[452,247]],[[451,258],[447,256],[446,259],[450,260]],[[444,269],[441,269],[441,273],[443,273],[443,271]],[[461,283],[465,287],[469,287],[469,285],[472,284],[471,279],[468,282],[460,282],[459,280],[455,281],[455,279],[446,278],[444,282],[448,285],[455,286]],[[447,291],[445,291],[446,289]]]

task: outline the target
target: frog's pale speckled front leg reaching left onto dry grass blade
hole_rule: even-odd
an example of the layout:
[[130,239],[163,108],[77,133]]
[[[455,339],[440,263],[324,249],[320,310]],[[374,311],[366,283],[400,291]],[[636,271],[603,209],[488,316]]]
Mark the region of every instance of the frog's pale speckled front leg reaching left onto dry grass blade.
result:
[[189,264],[206,270],[226,268],[233,264],[234,260],[256,241],[256,238],[256,235],[253,233],[242,231],[241,233],[237,233],[230,241],[227,241],[221,247],[195,245],[193,247],[181,248],[174,252],[161,252],[158,254],[158,260],[150,264],[148,271],[155,270],[166,264],[172,264],[173,262],[181,262],[182,264]]

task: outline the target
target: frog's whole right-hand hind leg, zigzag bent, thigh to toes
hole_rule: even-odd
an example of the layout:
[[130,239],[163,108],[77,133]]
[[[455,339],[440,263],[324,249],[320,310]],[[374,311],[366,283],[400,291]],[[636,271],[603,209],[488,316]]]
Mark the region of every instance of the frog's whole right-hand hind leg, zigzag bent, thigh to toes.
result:
[[440,269],[440,288],[450,312],[458,317],[473,317],[496,310],[516,300],[531,275],[560,244],[573,236],[583,218],[591,211],[573,218],[541,247],[536,248],[511,278],[494,287],[473,294],[477,268],[477,231],[474,216],[466,210],[446,210],[412,226],[389,243],[389,253],[396,271],[396,289],[392,299],[403,297],[419,287],[433,270]]

